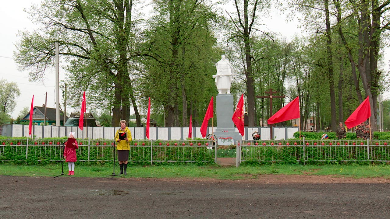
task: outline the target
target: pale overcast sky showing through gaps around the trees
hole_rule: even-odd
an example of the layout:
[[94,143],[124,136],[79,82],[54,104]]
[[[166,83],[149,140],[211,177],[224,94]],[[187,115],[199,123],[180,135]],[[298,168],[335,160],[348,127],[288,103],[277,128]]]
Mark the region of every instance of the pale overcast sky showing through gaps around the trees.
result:
[[[17,106],[11,113],[12,118],[18,117],[20,111],[24,107],[29,107],[31,98],[34,94],[34,105],[42,106],[45,102],[45,93],[48,93],[47,106],[55,108],[55,69],[49,69],[46,72],[46,78],[43,82],[29,82],[28,72],[18,71],[17,65],[12,59],[13,51],[16,49],[15,44],[19,40],[16,36],[18,30],[33,30],[34,25],[28,19],[28,14],[23,11],[29,8],[32,4],[40,4],[41,0],[18,0],[18,1],[3,1],[0,7],[0,78],[6,79],[8,82],[16,82],[20,89],[20,97],[18,98]],[[291,39],[293,35],[301,35],[301,31],[297,29],[298,23],[285,21],[285,16],[277,10],[273,10],[268,18],[265,18],[262,23],[265,23],[264,31],[277,32],[287,39]],[[385,71],[389,70],[390,49],[386,48],[385,54]],[[61,58],[61,57],[60,57]],[[60,61],[61,63],[61,61]],[[64,70],[60,68],[60,80],[64,77]],[[62,90],[60,90],[60,98]],[[385,99],[390,98],[390,93],[385,93]],[[62,99],[61,101],[62,102]],[[80,109],[66,109],[67,114]],[[87,106],[88,111],[88,106]]]

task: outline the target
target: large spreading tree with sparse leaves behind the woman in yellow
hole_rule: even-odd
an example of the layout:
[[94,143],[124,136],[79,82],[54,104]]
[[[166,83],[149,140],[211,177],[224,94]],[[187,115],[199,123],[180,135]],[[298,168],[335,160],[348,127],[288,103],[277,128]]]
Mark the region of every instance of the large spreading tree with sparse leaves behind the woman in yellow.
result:
[[53,65],[54,42],[59,42],[59,54],[69,63],[64,67],[72,82],[69,101],[78,105],[80,92],[89,90],[91,102],[112,108],[111,123],[117,126],[120,119],[128,120],[131,100],[139,126],[128,69],[138,56],[132,8],[132,0],[46,0],[29,12],[43,28],[21,32],[16,61],[30,70],[30,80],[38,80]]

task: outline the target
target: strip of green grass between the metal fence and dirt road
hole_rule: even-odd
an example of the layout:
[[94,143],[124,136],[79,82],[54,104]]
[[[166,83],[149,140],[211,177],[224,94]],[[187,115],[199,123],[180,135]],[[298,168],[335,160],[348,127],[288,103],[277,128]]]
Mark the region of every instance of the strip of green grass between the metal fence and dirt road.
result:
[[[64,173],[67,174],[67,163]],[[27,177],[54,177],[61,173],[61,164],[47,165],[16,165],[0,164],[0,175]],[[119,173],[119,166],[115,166]],[[162,165],[162,166],[128,166],[128,175],[133,178],[213,178],[225,180],[256,179],[260,175],[332,175],[335,177],[352,178],[390,178],[390,165],[386,164],[268,164],[261,166],[221,167],[218,165],[197,166]],[[112,166],[76,165],[75,177],[107,177],[112,174]]]

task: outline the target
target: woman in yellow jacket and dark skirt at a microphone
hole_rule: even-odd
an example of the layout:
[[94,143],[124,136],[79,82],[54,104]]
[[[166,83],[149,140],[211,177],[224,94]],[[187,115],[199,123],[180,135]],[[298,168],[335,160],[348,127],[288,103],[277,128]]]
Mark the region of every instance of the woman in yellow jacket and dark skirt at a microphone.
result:
[[[129,150],[130,145],[129,141],[132,140],[131,138],[131,132],[128,127],[126,127],[126,120],[121,120],[121,128],[118,129],[118,131],[115,133],[115,141],[118,142],[117,144],[117,152],[118,152],[118,161],[119,161],[119,167],[121,168],[121,173],[127,175],[126,169],[127,169],[127,162],[129,160]],[[126,133],[126,134],[124,134]],[[125,136],[124,140],[121,140],[119,136]]]

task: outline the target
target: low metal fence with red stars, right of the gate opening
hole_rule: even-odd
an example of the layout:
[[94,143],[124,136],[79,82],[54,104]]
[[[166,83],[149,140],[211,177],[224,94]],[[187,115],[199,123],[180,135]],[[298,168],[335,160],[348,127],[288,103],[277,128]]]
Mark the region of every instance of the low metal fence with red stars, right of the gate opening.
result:
[[237,162],[390,162],[390,140],[237,141]]

